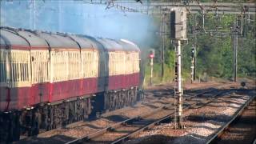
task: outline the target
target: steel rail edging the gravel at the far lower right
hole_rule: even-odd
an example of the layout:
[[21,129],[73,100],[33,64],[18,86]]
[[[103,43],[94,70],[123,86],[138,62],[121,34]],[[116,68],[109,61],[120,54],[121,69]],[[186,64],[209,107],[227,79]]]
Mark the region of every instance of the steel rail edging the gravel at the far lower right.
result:
[[238,111],[236,111],[236,113],[233,115],[233,118],[231,118],[229,122],[227,122],[224,126],[222,126],[222,128],[219,129],[218,132],[214,134],[214,136],[210,138],[208,142],[206,142],[206,144],[210,144],[216,141],[218,138],[220,138],[221,135],[228,129],[230,124],[234,122],[242,114],[245,108],[249,106],[250,102],[254,101],[255,98],[256,96],[251,97]]

